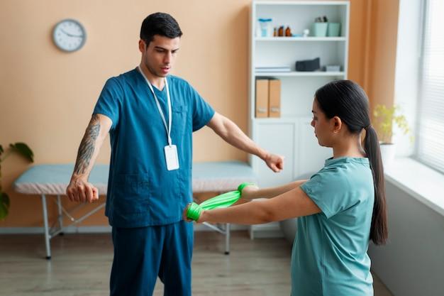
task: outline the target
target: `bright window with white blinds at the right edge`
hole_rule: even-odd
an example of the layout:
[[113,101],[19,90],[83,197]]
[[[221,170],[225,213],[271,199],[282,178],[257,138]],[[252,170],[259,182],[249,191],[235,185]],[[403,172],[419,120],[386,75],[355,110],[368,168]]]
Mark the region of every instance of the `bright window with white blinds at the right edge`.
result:
[[444,172],[444,1],[424,8],[416,157]]

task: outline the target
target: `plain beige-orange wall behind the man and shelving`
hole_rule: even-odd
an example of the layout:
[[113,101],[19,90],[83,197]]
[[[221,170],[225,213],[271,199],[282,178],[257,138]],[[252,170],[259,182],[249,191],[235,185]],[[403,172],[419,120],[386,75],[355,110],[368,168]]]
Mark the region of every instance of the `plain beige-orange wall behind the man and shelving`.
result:
[[[387,2],[388,10],[382,7]],[[138,65],[140,23],[156,11],[171,13],[184,32],[173,74],[191,82],[216,111],[246,131],[250,3],[1,1],[0,144],[28,143],[36,164],[73,163],[104,82]],[[364,85],[370,99],[393,99],[397,7],[397,0],[351,1],[349,78]],[[62,53],[52,44],[52,27],[62,18],[76,18],[87,28],[82,50]],[[109,153],[107,141],[98,162],[107,163]],[[195,133],[195,161],[233,159],[245,160],[246,155],[208,128]],[[40,199],[11,190],[26,168],[28,164],[16,156],[3,164],[2,184],[11,197],[11,209],[0,227],[42,225]],[[52,204],[49,212],[53,219]],[[99,212],[82,225],[106,224]]]

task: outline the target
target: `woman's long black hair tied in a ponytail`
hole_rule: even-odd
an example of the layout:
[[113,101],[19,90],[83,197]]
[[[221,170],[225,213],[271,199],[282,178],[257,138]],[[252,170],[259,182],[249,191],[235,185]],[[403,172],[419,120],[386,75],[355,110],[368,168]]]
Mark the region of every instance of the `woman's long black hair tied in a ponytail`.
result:
[[370,239],[377,245],[388,237],[384,168],[377,133],[370,123],[369,100],[364,89],[350,80],[329,82],[316,91],[316,102],[328,119],[338,116],[350,133],[365,129],[364,150],[370,161],[374,183],[374,205]]

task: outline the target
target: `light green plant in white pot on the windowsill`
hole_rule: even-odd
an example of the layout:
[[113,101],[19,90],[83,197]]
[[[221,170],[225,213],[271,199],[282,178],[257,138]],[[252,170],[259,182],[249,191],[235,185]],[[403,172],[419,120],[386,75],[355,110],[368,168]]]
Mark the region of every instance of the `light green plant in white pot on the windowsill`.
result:
[[[400,107],[397,105],[387,107],[385,105],[376,105],[373,111],[374,119],[377,121],[377,131],[379,136],[379,145],[381,148],[382,164],[385,168],[392,165],[396,150],[396,145],[393,143],[393,126],[406,135],[411,133],[406,116],[401,114]],[[411,137],[413,141],[413,137]]]

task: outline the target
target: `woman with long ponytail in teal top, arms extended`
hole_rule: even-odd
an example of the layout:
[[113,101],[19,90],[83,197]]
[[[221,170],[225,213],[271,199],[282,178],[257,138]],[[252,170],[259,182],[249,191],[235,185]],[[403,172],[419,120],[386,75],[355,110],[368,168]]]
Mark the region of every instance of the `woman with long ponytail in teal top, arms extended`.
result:
[[387,240],[387,214],[367,95],[349,80],[330,82],[316,91],[312,112],[319,145],[333,148],[324,168],[310,180],[281,187],[245,187],[243,199],[268,199],[203,211],[198,222],[261,224],[299,217],[292,296],[373,295],[367,249],[370,240]]

